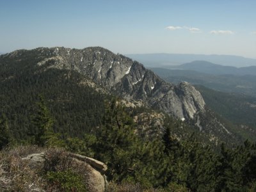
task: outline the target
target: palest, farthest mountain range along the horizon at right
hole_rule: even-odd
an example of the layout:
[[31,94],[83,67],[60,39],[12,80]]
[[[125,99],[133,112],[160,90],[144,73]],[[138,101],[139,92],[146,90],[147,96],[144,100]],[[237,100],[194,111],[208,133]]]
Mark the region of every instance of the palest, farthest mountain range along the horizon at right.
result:
[[219,65],[233,67],[248,67],[256,65],[256,59],[241,56],[205,55],[205,54],[126,54],[129,58],[143,63],[146,67],[163,67],[181,65],[192,61],[209,61]]

